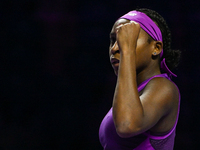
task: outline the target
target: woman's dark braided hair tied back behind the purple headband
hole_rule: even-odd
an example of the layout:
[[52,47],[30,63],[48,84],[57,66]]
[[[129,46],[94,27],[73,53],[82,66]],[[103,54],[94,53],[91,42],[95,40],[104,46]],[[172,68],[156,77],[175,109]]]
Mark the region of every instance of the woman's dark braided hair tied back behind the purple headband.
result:
[[166,64],[170,70],[177,67],[180,61],[181,51],[171,49],[171,31],[165,19],[154,10],[146,8],[136,10],[145,13],[158,25],[163,38],[163,58],[165,58]]

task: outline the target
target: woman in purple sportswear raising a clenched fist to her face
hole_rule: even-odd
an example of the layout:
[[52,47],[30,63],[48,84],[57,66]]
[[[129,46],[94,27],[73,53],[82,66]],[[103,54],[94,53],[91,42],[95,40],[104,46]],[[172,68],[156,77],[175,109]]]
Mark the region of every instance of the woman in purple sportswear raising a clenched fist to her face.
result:
[[180,94],[170,69],[180,51],[155,11],[138,9],[119,18],[110,33],[110,60],[117,75],[113,105],[99,138],[105,150],[172,150]]

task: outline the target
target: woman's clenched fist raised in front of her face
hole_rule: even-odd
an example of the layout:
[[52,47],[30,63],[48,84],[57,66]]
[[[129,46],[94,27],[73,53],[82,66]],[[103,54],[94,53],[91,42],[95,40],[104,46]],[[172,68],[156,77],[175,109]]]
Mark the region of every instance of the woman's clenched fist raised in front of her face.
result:
[[121,24],[116,28],[116,37],[120,52],[135,51],[139,32],[140,25],[134,21]]

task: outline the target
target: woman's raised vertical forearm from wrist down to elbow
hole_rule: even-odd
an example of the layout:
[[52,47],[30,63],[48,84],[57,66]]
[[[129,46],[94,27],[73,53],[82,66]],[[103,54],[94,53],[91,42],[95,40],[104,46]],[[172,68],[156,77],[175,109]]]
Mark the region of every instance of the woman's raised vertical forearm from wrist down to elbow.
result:
[[137,90],[135,50],[124,51],[120,55],[113,119],[117,132],[121,136],[129,136],[139,130],[144,114]]

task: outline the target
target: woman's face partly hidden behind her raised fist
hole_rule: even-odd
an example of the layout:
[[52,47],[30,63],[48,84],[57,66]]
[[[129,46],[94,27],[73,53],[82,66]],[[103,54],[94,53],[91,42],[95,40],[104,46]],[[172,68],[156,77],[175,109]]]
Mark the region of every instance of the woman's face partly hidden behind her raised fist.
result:
[[[110,32],[110,47],[109,47],[109,56],[111,65],[115,71],[115,74],[118,74],[118,67],[120,63],[120,51],[118,43],[116,41],[116,28],[121,24],[129,23],[127,19],[119,19],[113,25],[113,28]],[[140,28],[140,33],[137,39],[136,47],[136,71],[139,73],[143,71],[151,61],[152,51],[154,45],[152,42],[148,42],[149,35]]]

